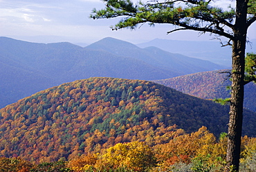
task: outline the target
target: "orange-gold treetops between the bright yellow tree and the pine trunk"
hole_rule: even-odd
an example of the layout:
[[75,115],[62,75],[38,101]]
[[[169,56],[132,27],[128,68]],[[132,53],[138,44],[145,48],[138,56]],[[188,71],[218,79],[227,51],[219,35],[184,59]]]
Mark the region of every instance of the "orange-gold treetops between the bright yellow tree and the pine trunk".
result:
[[163,166],[176,162],[188,163],[197,155],[207,156],[215,147],[216,138],[206,127],[191,134],[176,136],[167,144],[158,144],[154,147],[157,157],[164,163]]

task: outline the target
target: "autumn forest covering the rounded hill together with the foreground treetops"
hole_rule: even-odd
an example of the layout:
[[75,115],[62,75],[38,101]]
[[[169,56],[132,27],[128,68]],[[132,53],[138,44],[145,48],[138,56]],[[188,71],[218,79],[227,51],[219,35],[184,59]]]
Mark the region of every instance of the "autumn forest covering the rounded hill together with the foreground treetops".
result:
[[[228,107],[145,80],[76,80],[0,114],[5,171],[221,171],[225,164]],[[255,157],[255,120],[245,111],[244,168]]]

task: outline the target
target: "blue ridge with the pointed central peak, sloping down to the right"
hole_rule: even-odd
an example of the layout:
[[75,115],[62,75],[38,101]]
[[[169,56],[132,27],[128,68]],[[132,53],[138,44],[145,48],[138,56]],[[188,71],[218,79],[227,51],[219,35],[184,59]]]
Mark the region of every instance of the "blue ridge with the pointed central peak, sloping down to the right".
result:
[[86,48],[104,50],[118,56],[130,56],[140,61],[145,61],[150,65],[169,69],[171,72],[180,72],[182,75],[223,69],[223,66],[210,63],[209,61],[202,61],[198,58],[190,58],[181,54],[172,54],[157,47],[141,49],[131,43],[112,38],[102,39]]

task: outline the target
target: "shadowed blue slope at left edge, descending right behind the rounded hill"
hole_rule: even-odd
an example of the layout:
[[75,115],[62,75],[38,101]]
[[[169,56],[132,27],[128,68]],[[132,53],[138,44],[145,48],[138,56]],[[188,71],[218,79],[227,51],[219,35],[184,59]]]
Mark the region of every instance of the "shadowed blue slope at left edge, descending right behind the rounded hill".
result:
[[0,108],[15,103],[15,101],[35,94],[48,87],[57,85],[52,78],[48,78],[34,69],[20,65],[10,59],[0,56]]

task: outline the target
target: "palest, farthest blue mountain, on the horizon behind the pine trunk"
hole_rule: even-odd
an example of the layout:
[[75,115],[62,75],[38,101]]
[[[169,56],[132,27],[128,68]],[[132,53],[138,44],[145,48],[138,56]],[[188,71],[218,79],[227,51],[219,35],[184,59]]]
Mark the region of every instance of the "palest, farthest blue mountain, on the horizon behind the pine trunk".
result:
[[[225,44],[225,41],[223,41]],[[222,46],[220,41],[178,41],[168,39],[154,39],[146,43],[137,44],[138,47],[158,47],[167,52],[183,54],[219,65],[231,67],[231,47]],[[246,52],[256,52],[256,39],[248,40]]]

